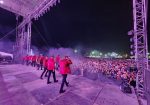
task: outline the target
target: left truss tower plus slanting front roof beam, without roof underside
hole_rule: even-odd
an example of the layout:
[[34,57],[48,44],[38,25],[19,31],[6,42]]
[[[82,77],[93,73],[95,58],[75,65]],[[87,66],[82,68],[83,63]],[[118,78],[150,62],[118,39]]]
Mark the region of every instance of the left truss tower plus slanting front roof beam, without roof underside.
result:
[[[24,17],[23,21],[17,26],[16,45],[18,48],[18,55],[30,54],[31,49],[31,21],[37,20],[40,16],[50,10],[51,7],[56,5],[58,0],[45,0],[43,3],[36,7],[33,13]],[[58,1],[59,3],[60,1]]]

